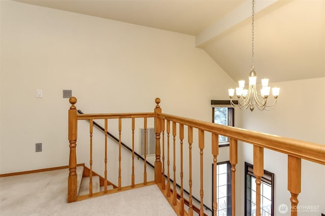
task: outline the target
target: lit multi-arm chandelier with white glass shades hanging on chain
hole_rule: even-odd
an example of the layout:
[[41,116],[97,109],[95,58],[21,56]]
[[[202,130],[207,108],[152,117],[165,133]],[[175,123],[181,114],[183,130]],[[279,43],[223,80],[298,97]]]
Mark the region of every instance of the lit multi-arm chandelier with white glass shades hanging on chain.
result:
[[245,80],[238,81],[239,87],[236,88],[236,95],[238,98],[238,103],[234,103],[233,97],[235,94],[235,89],[229,89],[229,97],[232,107],[239,108],[241,110],[247,109],[249,107],[250,111],[257,107],[259,110],[271,110],[276,105],[276,99],[279,96],[280,88],[272,88],[272,95],[274,101],[271,104],[267,104],[267,99],[270,95],[269,79],[262,79],[262,89],[261,94],[257,92],[256,89],[256,72],[254,66],[254,3],[252,1],[252,65],[249,73],[249,83],[248,89],[245,89]]

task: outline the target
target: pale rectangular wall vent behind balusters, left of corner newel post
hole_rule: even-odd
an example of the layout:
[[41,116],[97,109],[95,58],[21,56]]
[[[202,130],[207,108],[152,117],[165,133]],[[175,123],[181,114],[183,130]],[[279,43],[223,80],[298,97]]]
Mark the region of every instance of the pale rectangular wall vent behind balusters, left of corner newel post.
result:
[[[140,128],[139,131],[140,131],[139,152],[140,152],[140,155],[144,156],[144,128]],[[146,139],[146,154],[147,155],[155,154],[156,137],[155,137],[153,127],[147,128],[146,137],[147,137],[147,139]]]

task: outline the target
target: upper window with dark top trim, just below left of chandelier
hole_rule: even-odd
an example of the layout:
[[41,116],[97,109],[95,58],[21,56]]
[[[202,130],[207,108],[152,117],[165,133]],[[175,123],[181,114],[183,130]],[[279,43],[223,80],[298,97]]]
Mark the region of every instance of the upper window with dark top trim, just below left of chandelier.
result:
[[[212,122],[217,124],[234,126],[234,108],[230,107],[230,101],[211,101]],[[219,146],[229,146],[229,138],[219,136]]]

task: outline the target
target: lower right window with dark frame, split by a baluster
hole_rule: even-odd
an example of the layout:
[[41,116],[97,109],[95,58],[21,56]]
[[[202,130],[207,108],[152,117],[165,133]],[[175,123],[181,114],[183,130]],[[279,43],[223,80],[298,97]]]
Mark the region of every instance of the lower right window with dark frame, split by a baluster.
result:
[[[245,162],[245,216],[256,216],[256,184],[253,165]],[[261,179],[261,215],[273,216],[274,174],[264,170]]]

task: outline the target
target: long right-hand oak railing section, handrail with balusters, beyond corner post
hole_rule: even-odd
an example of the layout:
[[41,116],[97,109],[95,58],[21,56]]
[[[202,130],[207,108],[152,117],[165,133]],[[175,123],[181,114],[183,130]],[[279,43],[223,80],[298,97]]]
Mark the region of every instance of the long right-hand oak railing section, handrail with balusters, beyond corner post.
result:
[[[290,202],[291,202],[291,215],[297,215],[297,204],[298,204],[298,195],[301,192],[301,159],[306,159],[315,163],[319,163],[325,165],[325,146],[321,144],[315,144],[310,142],[304,142],[289,138],[278,137],[274,135],[268,135],[258,132],[252,132],[241,128],[230,127],[225,125],[219,125],[210,122],[204,122],[164,113],[157,114],[158,118],[167,121],[167,131],[169,131],[168,125],[171,123],[173,127],[176,127],[176,124],[188,127],[188,135],[192,136],[193,128],[198,130],[198,147],[200,149],[200,181],[203,182],[203,150],[204,144],[207,143],[204,141],[205,134],[211,134],[211,142],[212,142],[212,161],[213,161],[213,169],[214,173],[216,166],[216,158],[218,155],[218,136],[225,136],[230,138],[230,163],[232,170],[232,215],[236,215],[235,206],[236,206],[236,194],[235,194],[235,174],[236,174],[236,164],[238,163],[238,154],[237,154],[237,146],[238,141],[242,141],[248,144],[253,145],[253,173],[256,176],[256,215],[261,214],[261,177],[264,174],[264,148],[271,149],[280,153],[284,153],[288,155],[288,190],[291,194]],[[173,134],[174,136],[174,134]],[[181,137],[181,136],[180,136]],[[173,138],[174,139],[174,138]],[[179,141],[182,143],[182,139]],[[192,149],[192,138],[188,138],[188,147]],[[181,144],[180,144],[181,145]],[[175,152],[175,151],[174,151]],[[175,157],[175,156],[174,156]],[[189,158],[191,158],[191,151],[189,151]],[[169,156],[168,159],[169,160]],[[189,183],[188,187],[192,187],[192,179],[191,179],[191,159],[189,159]],[[175,171],[174,171],[175,172]],[[215,178],[215,177],[214,177]],[[169,180],[167,180],[168,182]],[[213,185],[213,193],[215,196],[216,190],[216,181],[214,179]],[[203,188],[202,184],[200,185],[200,196],[201,200],[203,200]],[[168,192],[167,192],[168,196]],[[190,202],[190,201],[189,201]],[[175,203],[172,203],[175,205]],[[213,213],[216,215],[217,210],[216,200],[213,200]],[[180,214],[182,215],[182,206],[179,209]],[[202,212],[203,207],[201,206],[200,215],[203,215]],[[192,215],[189,210],[189,214]]]

